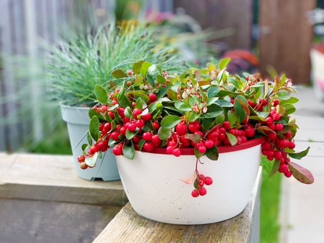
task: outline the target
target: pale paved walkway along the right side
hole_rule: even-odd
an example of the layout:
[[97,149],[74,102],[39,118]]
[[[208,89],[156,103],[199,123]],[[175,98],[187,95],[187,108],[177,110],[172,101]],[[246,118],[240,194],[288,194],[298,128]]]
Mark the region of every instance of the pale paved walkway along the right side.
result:
[[301,160],[292,160],[312,172],[315,181],[305,185],[294,178],[283,178],[281,194],[281,243],[324,242],[324,103],[312,89],[296,88],[299,98],[294,113],[299,131],[296,151],[310,146]]

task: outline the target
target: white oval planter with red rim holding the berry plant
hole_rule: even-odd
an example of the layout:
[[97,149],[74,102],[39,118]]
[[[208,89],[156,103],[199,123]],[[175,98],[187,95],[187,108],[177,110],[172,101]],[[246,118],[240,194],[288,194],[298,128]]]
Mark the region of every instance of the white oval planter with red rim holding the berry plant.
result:
[[206,195],[196,198],[191,196],[193,183],[180,180],[193,175],[194,155],[175,157],[136,151],[134,160],[125,156],[116,156],[116,160],[121,182],[138,214],[171,224],[215,223],[238,215],[246,207],[257,177],[263,141],[255,139],[231,146],[229,149],[236,151],[230,152],[222,152],[224,147],[220,147],[217,161],[201,157],[204,164],[198,164],[198,171],[212,177],[213,184],[206,186]]

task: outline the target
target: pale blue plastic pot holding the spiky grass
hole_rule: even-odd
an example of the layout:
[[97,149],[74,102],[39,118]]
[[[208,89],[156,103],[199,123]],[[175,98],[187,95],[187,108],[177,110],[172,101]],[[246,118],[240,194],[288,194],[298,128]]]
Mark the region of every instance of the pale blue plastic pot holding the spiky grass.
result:
[[120,176],[115,155],[112,153],[111,149],[108,149],[106,153],[103,154],[104,156],[102,159],[97,159],[94,168],[82,170],[77,161],[77,157],[83,152],[82,144],[88,143],[87,136],[84,137],[84,135],[89,130],[89,109],[90,108],[86,107],[61,105],[62,117],[67,124],[77,175],[85,180],[94,180],[96,178],[101,178],[104,181],[119,180]]

